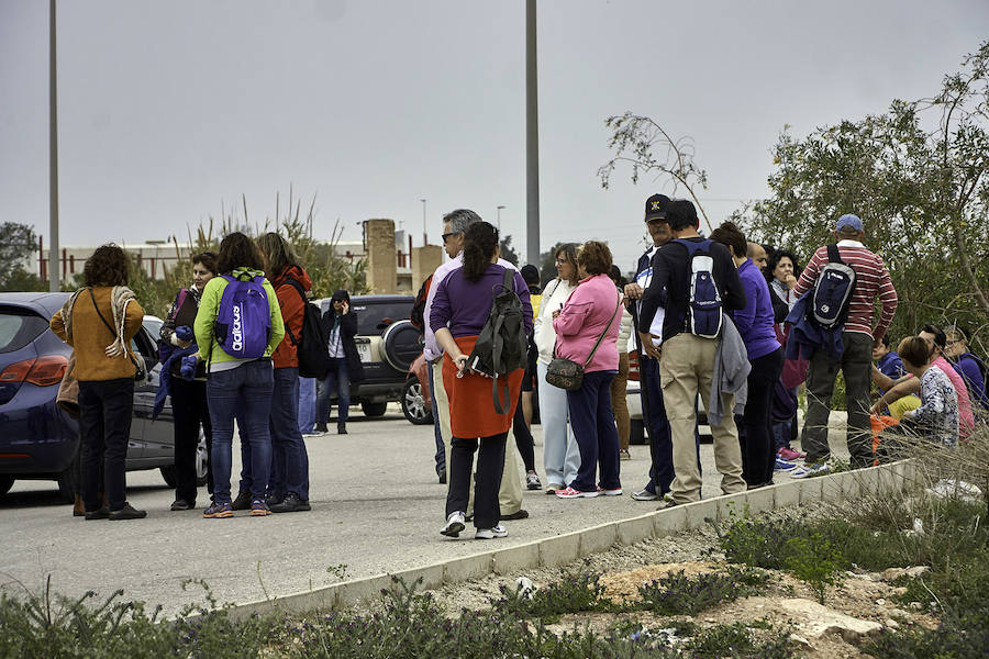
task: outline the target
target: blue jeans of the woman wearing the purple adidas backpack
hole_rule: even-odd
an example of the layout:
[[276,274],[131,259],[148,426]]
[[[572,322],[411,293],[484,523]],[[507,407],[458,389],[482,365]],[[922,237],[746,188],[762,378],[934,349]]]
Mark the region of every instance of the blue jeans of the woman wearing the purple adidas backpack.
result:
[[[270,359],[246,361],[223,371],[211,372],[207,380],[210,418],[213,422],[213,496],[216,503],[230,503],[231,445],[234,415],[242,437],[251,445],[251,495],[265,498],[271,466],[271,392],[275,373]],[[243,454],[242,454],[243,455]]]

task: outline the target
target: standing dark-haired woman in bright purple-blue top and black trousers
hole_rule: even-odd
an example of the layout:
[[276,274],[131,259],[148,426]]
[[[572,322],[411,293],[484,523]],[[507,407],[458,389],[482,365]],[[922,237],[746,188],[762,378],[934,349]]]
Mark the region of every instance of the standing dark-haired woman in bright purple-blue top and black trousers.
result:
[[782,371],[784,353],[773,327],[773,300],[769,287],[759,269],[746,256],[745,235],[731,222],[713,232],[711,239],[725,245],[732,253],[738,278],[745,288],[744,309],[732,312],[732,320],[742,335],[752,371],[748,373],[748,398],[738,424],[742,443],[742,477],[748,489],[773,484],[776,466],[776,440],[773,436],[770,407],[773,389]]

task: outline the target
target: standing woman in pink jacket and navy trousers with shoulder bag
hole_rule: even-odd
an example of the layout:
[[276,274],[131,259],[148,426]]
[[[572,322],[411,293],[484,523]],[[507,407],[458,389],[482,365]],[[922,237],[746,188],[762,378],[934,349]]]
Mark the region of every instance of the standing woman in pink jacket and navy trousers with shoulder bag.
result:
[[[577,255],[580,283],[563,310],[554,312],[556,356],[584,366],[584,386],[567,391],[570,425],[580,448],[577,478],[556,495],[578,499],[605,494],[620,496],[619,438],[611,409],[611,381],[618,373],[618,335],[621,324],[621,294],[608,277],[611,250],[590,241]],[[594,471],[601,465],[601,478]]]

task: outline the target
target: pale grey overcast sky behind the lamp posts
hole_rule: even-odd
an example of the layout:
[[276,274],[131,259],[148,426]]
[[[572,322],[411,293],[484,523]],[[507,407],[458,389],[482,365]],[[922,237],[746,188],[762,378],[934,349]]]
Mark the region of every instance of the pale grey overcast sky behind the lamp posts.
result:
[[[0,222],[45,236],[47,5],[0,0]],[[674,192],[601,189],[610,114],[693,137],[722,220],[767,193],[785,124],[931,96],[987,36],[986,0],[541,1],[541,244],[602,238],[629,268],[645,198]],[[290,183],[321,236],[391,217],[419,245],[425,198],[432,242],[498,205],[522,242],[524,0],[59,0],[58,94],[63,245],[182,237],[242,192],[274,216]]]

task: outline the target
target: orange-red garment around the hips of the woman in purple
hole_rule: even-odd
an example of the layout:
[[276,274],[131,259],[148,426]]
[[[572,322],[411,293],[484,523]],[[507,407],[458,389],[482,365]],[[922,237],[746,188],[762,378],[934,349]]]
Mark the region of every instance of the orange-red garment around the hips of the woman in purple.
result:
[[[460,351],[469,355],[477,343],[476,336],[455,338]],[[449,427],[454,437],[490,437],[507,433],[512,427],[512,416],[519,404],[519,392],[522,390],[523,369],[516,369],[508,376],[509,410],[504,414],[494,411],[492,387],[494,380],[476,373],[464,373],[457,377],[457,367],[449,355],[443,358],[443,388],[449,399]],[[499,380],[502,380],[499,378]],[[502,382],[498,382],[499,395],[503,395]],[[503,400],[503,399],[502,399]]]

